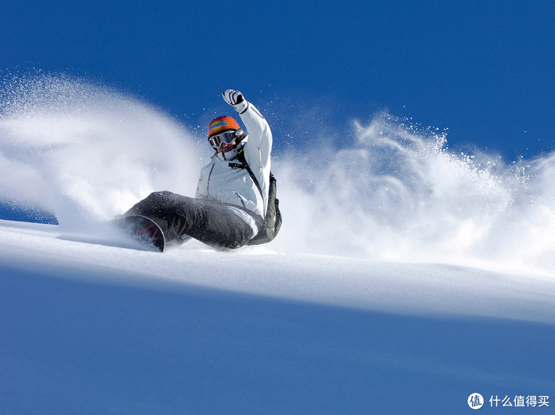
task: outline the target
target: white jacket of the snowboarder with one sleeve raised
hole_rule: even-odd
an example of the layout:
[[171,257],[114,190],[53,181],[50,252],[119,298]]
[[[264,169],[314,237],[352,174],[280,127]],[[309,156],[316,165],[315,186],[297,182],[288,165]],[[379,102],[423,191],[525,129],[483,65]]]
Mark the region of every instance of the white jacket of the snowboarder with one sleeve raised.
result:
[[[212,156],[210,163],[200,171],[195,198],[208,198],[228,205],[251,225],[256,235],[258,227],[252,215],[259,216],[264,221],[268,208],[272,133],[258,109],[249,102],[245,103],[244,108],[239,108],[238,111],[241,111],[239,116],[248,131],[248,138],[241,141],[235,149]],[[248,170],[239,167],[240,163],[236,158],[241,149],[258,180],[261,192]]]

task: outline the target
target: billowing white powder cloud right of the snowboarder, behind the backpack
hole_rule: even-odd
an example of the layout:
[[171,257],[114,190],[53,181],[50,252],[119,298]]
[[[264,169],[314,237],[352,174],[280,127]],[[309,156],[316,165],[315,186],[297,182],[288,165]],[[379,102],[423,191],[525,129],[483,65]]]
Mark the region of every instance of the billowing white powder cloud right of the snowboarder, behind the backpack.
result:
[[453,154],[445,131],[388,114],[355,134],[280,165],[281,249],[555,270],[555,154]]

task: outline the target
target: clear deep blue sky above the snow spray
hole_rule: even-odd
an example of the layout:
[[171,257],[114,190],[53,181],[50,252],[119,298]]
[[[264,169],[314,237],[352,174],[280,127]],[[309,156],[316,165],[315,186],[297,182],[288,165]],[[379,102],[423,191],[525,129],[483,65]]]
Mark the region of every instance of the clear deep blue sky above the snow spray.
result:
[[554,149],[555,2],[157,3],[4,2],[0,70],[100,79],[190,125],[237,88],[272,102],[279,134],[282,119],[310,124],[297,111],[325,114],[315,124],[336,135],[388,109],[448,128],[451,149]]

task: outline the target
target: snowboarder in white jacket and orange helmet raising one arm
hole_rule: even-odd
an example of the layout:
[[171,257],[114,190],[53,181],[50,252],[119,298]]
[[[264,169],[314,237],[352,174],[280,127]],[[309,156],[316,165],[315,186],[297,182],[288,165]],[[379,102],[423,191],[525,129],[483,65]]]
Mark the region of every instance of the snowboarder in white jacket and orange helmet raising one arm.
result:
[[131,215],[153,221],[152,227],[141,225],[132,232],[151,245],[162,233],[162,241],[154,242],[157,250],[163,251],[164,242],[181,243],[191,237],[214,247],[239,248],[265,227],[270,126],[239,91],[228,89],[222,95],[239,113],[248,133],[232,117],[215,118],[208,125],[208,141],[215,154],[200,171],[195,197],[158,191],[123,215],[128,231]]

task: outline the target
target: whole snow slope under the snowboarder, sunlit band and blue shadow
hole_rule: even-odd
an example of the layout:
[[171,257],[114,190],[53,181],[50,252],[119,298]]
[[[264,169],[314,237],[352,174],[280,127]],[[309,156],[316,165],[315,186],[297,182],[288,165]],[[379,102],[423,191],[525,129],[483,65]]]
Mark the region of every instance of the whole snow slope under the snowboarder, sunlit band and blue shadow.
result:
[[552,279],[83,240],[0,222],[2,413],[463,413],[555,387]]

